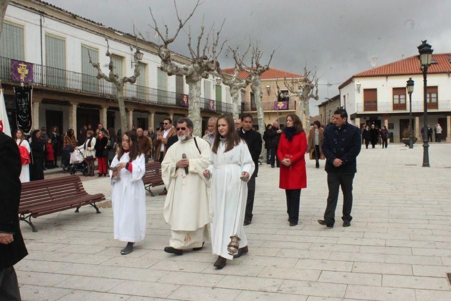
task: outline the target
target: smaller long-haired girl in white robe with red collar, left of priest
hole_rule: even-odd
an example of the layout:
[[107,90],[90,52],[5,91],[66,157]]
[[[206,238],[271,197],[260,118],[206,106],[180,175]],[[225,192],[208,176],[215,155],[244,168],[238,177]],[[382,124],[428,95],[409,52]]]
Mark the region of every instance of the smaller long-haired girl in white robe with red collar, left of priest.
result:
[[117,169],[110,170],[114,239],[127,242],[121,250],[121,254],[126,255],[133,251],[134,243],[143,241],[146,235],[146,191],[141,179],[146,166],[134,131],[122,135],[119,153],[111,167]]

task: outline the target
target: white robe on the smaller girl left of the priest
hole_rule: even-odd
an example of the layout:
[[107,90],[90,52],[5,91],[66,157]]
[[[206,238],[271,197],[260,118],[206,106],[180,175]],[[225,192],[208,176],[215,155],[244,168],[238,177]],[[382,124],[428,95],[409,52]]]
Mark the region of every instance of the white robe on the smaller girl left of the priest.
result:
[[[127,163],[129,153],[121,159],[114,156],[111,166]],[[125,168],[119,172],[120,180],[113,184],[111,203],[113,207],[114,239],[139,242],[146,235],[146,191],[141,178],[146,172],[144,155],[131,162],[132,172]],[[110,177],[113,172],[110,171]]]

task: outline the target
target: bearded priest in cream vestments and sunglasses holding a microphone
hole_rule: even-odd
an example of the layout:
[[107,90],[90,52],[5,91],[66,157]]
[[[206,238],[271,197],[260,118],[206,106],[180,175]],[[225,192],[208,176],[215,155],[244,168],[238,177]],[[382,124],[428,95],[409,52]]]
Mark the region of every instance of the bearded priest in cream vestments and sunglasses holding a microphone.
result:
[[[198,251],[208,240],[210,190],[202,173],[208,167],[210,144],[192,136],[192,129],[189,118],[177,121],[178,141],[168,148],[161,162],[161,175],[167,187],[163,215],[171,226],[169,247],[164,251],[176,255],[190,248]],[[186,159],[182,159],[183,154]]]

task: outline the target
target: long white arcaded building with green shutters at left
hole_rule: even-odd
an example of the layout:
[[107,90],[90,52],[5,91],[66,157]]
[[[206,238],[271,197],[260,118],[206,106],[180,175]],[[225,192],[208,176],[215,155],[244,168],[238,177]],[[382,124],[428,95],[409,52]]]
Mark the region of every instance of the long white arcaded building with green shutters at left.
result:
[[[97,79],[97,71],[89,63],[90,55],[108,74],[105,38],[114,72],[120,77],[133,75],[134,37],[45,2],[10,1],[0,39],[0,80],[12,128],[17,127],[13,86],[20,83],[12,80],[11,60],[34,66],[34,81],[30,83],[34,86],[33,128],[57,125],[63,133],[68,127],[78,130],[87,124],[96,128],[98,122],[105,128],[120,128],[115,87]],[[187,116],[187,107],[180,104],[182,94],[189,92],[184,76],[167,76],[159,69],[161,60],[154,44],[138,41],[138,48],[144,53],[140,76],[124,88],[129,127],[158,126],[164,117],[176,120]],[[173,60],[181,65],[190,62],[175,53]],[[228,87],[217,85],[214,74],[202,79],[201,87],[204,123],[210,116],[232,111]],[[214,100],[214,109],[209,100]]]

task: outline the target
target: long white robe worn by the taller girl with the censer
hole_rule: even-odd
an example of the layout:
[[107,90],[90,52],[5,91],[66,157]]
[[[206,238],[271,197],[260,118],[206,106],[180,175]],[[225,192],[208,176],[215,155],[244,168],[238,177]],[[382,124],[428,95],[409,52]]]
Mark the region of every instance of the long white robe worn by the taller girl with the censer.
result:
[[[248,145],[242,140],[229,152],[224,153],[225,141],[221,139],[217,154],[210,153],[208,171],[211,177],[211,248],[213,254],[233,259],[227,251],[230,237],[238,234],[240,248],[248,245],[243,230],[243,220],[248,196],[248,186],[240,177],[243,172],[249,178],[255,169]],[[238,212],[238,214],[237,214]]]

